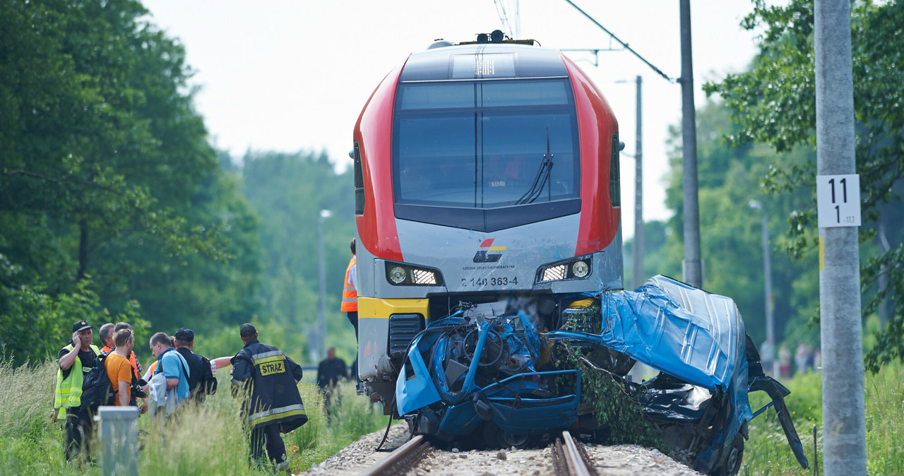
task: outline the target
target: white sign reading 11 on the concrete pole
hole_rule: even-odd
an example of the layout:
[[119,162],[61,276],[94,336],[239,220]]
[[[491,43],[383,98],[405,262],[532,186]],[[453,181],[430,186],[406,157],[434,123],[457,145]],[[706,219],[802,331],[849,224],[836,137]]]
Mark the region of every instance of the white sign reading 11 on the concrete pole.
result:
[[819,228],[859,227],[860,175],[816,175]]

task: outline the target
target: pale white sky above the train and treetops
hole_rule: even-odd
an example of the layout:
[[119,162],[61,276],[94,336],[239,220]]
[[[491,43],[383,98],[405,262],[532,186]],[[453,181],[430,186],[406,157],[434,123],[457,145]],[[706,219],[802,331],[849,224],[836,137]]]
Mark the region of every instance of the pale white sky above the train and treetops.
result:
[[[572,0],[667,76],[681,76],[677,0]],[[370,95],[411,52],[436,39],[474,41],[495,29],[565,51],[607,98],[626,143],[622,229],[634,231],[636,77],[642,78],[644,219],[667,219],[669,126],[681,124],[681,87],[621,48],[564,0],[144,0],[147,20],[184,45],[195,107],[212,144],[248,150],[324,151],[351,165],[355,121]],[[702,84],[745,70],[755,35],[739,23],[750,0],[691,3],[695,105]],[[507,19],[507,22],[503,21]]]

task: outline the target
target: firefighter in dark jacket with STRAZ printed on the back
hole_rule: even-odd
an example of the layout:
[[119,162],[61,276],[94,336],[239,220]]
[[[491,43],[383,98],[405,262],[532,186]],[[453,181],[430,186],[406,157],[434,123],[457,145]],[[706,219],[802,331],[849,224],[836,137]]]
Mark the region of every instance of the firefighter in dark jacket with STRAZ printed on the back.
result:
[[266,444],[270,462],[286,470],[286,444],[280,433],[288,433],[307,422],[298,393],[301,367],[276,347],[258,341],[251,324],[239,329],[245,347],[231,359],[232,391],[244,397],[242,423],[250,427],[250,462],[264,457]]

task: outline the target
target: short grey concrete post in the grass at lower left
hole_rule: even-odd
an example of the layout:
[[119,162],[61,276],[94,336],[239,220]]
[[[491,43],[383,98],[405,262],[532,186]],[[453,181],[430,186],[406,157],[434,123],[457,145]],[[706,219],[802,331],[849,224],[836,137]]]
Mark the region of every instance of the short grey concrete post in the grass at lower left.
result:
[[100,446],[104,476],[138,475],[138,407],[100,406]]

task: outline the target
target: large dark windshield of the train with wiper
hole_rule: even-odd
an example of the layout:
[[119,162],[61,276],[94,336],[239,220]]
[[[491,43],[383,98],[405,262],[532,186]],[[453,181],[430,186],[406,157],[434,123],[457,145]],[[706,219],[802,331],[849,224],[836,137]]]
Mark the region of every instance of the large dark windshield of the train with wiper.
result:
[[395,201],[494,209],[579,198],[579,142],[568,79],[402,83]]

